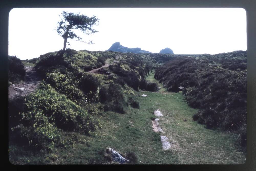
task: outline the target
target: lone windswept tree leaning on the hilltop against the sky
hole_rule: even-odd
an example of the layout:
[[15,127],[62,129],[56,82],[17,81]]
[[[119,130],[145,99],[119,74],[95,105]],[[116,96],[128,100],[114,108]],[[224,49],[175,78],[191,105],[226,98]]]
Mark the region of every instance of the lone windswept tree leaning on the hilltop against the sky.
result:
[[[99,19],[93,15],[93,17],[88,17],[86,15],[80,15],[80,12],[77,14],[74,14],[73,12],[66,12],[62,11],[61,13],[62,18],[61,21],[58,22],[59,26],[57,27],[58,34],[64,38],[64,46],[62,51],[66,49],[66,44],[69,42],[68,38],[74,39],[77,38],[78,41],[82,41],[82,38],[77,36],[73,30],[79,29],[86,35],[90,35],[92,33],[96,33],[98,31],[94,30],[92,27],[93,25],[99,24]],[[90,40],[89,42],[84,42],[88,44],[93,44],[93,42]]]

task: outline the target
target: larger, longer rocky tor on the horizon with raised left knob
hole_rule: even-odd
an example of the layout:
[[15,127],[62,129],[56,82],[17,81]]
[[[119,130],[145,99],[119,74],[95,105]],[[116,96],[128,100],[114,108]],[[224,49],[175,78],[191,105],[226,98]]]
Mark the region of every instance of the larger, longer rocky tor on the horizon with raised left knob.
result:
[[138,53],[151,53],[150,51],[146,51],[146,50],[141,50],[141,48],[139,47],[136,47],[136,48],[128,48],[128,47],[124,47],[122,45],[120,45],[120,42],[115,42],[113,43],[113,45],[106,51],[115,51],[115,52],[123,52],[123,53],[126,53],[126,52],[132,52],[132,53],[135,53],[135,54],[138,54]]

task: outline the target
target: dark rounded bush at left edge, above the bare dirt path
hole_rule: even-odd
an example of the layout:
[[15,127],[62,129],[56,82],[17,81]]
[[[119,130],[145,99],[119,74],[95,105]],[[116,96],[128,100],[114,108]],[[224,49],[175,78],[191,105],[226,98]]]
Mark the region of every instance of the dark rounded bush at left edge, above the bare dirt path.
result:
[[16,56],[8,56],[8,80],[12,83],[17,83],[23,80],[26,71],[22,61]]

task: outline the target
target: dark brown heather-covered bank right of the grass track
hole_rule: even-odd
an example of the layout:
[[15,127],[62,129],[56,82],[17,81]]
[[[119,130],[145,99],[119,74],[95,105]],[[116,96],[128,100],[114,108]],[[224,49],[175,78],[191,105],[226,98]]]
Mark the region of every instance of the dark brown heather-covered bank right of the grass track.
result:
[[[247,115],[246,52],[178,57],[159,67],[155,78],[183,93],[200,110],[193,120],[207,128],[240,130]],[[241,131],[240,131],[241,132]]]

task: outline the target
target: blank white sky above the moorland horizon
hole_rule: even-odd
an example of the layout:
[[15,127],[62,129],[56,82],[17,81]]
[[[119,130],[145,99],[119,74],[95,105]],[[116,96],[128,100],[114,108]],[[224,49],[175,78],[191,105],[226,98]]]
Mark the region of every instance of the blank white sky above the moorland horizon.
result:
[[67,48],[107,50],[115,42],[159,53],[218,54],[247,49],[246,11],[242,8],[14,8],[9,13],[9,55],[31,59],[63,48],[56,31],[62,10],[95,15],[100,21],[84,41]]

